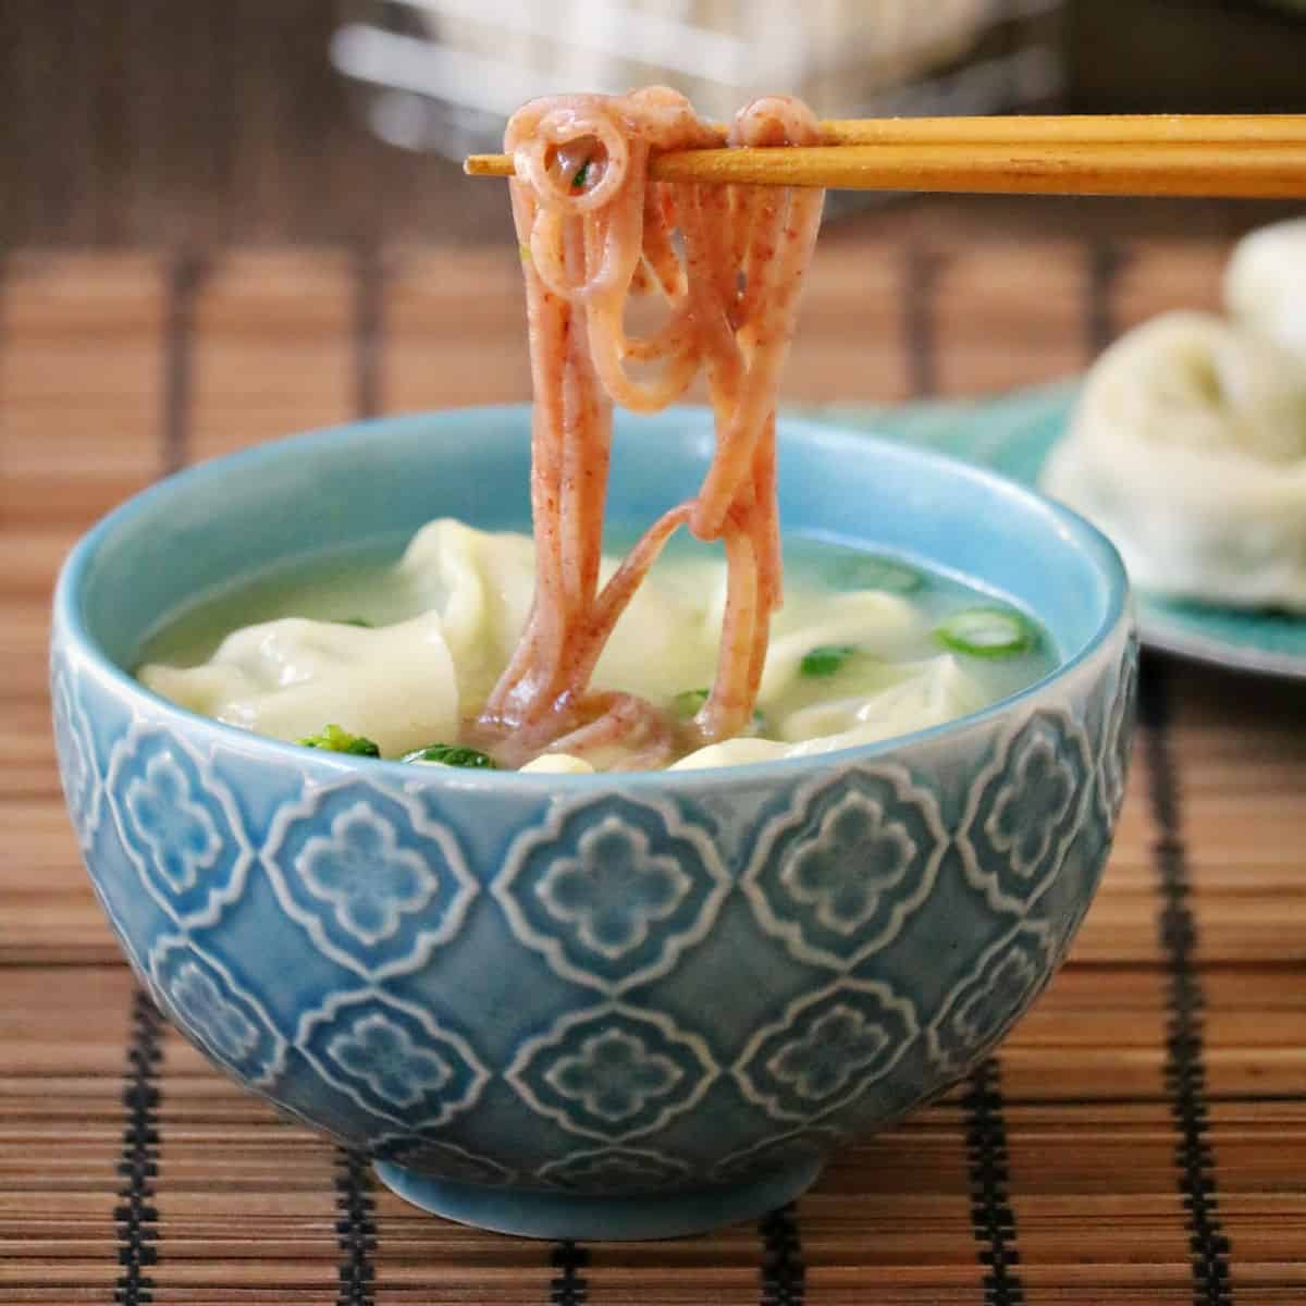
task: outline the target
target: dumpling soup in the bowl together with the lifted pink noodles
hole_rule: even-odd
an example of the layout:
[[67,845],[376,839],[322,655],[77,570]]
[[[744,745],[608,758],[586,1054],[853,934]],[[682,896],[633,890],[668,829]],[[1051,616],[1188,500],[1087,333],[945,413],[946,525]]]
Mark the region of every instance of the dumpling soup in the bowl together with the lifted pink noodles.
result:
[[[161,632],[141,679],[312,747],[562,772],[852,747],[1047,670],[1053,650],[1025,615],[901,560],[790,541],[785,582],[776,396],[823,196],[658,182],[649,161],[820,140],[782,95],[729,129],[658,86],[525,104],[504,144],[534,390],[533,538],[436,521],[397,564],[263,577]],[[632,300],[660,313],[644,334],[628,329]],[[620,560],[605,556],[614,405],[658,411],[699,374],[716,427],[701,485]]]

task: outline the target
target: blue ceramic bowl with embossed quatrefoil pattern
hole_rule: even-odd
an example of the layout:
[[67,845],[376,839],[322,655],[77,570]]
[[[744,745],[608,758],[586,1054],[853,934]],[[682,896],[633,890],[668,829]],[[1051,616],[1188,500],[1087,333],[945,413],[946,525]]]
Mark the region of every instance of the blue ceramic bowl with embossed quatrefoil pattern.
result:
[[[978,577],[1042,619],[1059,669],[831,756],[568,777],[296,748],[131,678],[161,618],[251,568],[441,515],[524,528],[528,431],[524,407],[350,426],[118,509],[59,584],[59,763],[123,948],[242,1084],[431,1211],[687,1233],[802,1191],[1047,983],[1124,786],[1126,579],[1010,482],[786,422],[788,530]],[[710,447],[700,410],[619,422],[610,520],[691,494]]]

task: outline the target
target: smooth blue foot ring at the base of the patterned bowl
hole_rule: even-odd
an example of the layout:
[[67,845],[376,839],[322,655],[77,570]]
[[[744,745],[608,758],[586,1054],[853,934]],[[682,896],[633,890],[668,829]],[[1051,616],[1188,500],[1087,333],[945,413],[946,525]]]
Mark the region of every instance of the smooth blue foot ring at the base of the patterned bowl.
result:
[[807,1157],[746,1183],[629,1198],[520,1192],[453,1183],[407,1170],[393,1161],[377,1161],[376,1173],[405,1202],[478,1229],[524,1238],[626,1239],[679,1238],[755,1220],[797,1198],[824,1165],[824,1157]]

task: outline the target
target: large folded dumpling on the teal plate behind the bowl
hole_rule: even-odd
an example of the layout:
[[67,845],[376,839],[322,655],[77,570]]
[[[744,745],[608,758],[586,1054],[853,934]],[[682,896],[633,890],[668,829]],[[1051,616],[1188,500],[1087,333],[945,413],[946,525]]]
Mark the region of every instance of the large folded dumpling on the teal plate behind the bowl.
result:
[[1260,334],[1168,313],[1122,337],[1042,486],[1141,589],[1306,611],[1306,367]]

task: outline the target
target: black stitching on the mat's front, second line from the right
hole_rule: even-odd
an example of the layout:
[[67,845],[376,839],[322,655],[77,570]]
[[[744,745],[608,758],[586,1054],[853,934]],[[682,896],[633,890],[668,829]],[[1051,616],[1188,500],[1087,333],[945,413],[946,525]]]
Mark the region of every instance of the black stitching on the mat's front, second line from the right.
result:
[[1023,1306],[1025,1289],[1016,1273],[1016,1213],[1007,1194],[1007,1122],[998,1062],[989,1058],[970,1072],[961,1098],[966,1113],[966,1157],[970,1162],[970,1229],[986,1267],[986,1306]]

